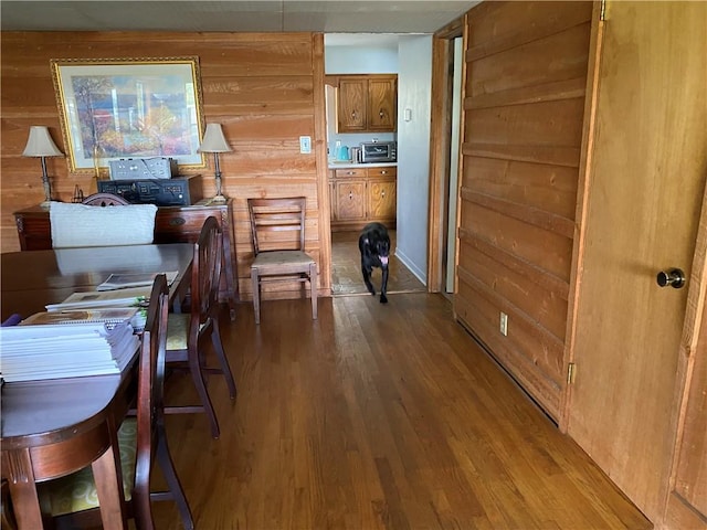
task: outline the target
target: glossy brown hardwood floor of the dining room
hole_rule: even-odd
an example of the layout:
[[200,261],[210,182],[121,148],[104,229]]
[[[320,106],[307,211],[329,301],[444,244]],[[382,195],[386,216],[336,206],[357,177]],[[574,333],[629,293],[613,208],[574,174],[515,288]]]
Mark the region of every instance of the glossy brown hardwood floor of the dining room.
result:
[[[651,523],[452,318],[440,295],[240,305],[221,424],[167,418],[197,528],[647,529]],[[193,399],[168,381],[168,400]],[[159,529],[180,527],[171,502]]]

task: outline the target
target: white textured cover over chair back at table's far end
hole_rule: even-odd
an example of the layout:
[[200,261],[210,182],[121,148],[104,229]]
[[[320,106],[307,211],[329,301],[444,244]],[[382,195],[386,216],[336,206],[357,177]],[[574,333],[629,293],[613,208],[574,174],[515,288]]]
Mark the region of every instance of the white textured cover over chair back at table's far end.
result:
[[49,214],[54,248],[146,245],[155,237],[155,204],[89,206],[52,202]]

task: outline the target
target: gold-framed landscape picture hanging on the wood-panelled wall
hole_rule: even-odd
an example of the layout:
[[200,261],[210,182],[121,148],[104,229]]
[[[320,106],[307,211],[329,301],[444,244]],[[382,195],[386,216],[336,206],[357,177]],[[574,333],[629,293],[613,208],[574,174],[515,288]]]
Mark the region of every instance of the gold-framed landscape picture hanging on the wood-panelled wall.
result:
[[108,160],[172,158],[204,168],[198,57],[50,61],[68,170]]

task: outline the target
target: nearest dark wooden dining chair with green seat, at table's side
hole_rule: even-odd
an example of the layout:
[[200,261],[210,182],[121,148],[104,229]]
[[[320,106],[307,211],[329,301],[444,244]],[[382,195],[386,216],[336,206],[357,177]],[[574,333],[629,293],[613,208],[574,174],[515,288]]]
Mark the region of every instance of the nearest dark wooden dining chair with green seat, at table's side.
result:
[[[163,417],[165,346],[167,340],[169,289],[163,274],[157,276],[150,293],[138,367],[137,406],[120,425],[118,441],[124,491],[128,513],[140,530],[155,528],[152,500],[173,500],[182,524],[193,529],[189,504],[175,470],[167,445]],[[155,459],[168,485],[167,491],[150,491]],[[95,526],[99,507],[91,468],[51,480],[43,495],[51,507],[56,528]]]

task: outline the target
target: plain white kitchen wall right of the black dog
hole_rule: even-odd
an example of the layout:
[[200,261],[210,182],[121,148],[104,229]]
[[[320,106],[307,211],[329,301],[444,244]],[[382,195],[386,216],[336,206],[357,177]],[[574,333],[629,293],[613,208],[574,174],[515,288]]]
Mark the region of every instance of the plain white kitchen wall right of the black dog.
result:
[[[398,62],[400,70],[395,256],[426,285],[432,36],[401,36],[398,44]],[[405,120],[407,113],[410,116],[409,121]]]

